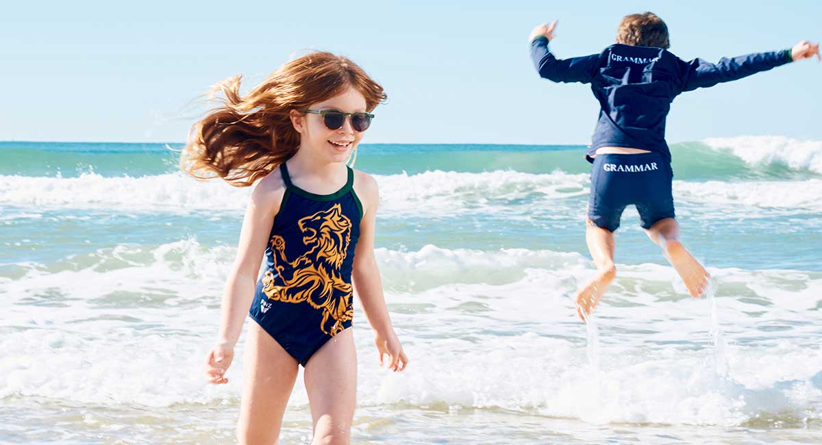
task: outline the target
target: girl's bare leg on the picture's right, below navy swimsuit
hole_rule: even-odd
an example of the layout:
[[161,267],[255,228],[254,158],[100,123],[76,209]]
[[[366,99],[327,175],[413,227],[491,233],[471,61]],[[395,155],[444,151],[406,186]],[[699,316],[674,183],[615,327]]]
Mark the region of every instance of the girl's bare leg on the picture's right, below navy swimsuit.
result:
[[357,406],[353,329],[338,333],[316,351],[303,377],[314,420],[312,445],[348,445]]

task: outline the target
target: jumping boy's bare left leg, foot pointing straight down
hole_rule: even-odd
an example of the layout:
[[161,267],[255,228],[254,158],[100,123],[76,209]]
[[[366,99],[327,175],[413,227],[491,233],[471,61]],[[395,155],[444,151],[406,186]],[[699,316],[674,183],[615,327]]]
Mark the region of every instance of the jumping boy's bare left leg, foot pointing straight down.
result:
[[588,220],[585,241],[588,243],[593,263],[597,265],[597,276],[576,294],[576,314],[582,321],[585,321],[585,317],[599,304],[605,289],[617,277],[617,267],[614,266],[613,232],[597,227]]

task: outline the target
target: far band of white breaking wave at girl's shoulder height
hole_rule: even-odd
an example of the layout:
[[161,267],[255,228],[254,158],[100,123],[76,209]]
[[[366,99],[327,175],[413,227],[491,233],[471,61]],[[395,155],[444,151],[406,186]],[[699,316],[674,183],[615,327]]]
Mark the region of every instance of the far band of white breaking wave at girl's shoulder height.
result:
[[[432,216],[539,212],[546,203],[576,209],[587,200],[589,175],[510,171],[425,172],[376,176],[381,213]],[[150,177],[75,178],[0,176],[0,204],[37,209],[242,213],[251,190],[220,181],[201,183],[182,173]],[[717,212],[797,214],[822,212],[822,180],[674,181],[678,203],[700,204]],[[563,200],[572,200],[563,202]],[[0,213],[0,217],[2,217]]]

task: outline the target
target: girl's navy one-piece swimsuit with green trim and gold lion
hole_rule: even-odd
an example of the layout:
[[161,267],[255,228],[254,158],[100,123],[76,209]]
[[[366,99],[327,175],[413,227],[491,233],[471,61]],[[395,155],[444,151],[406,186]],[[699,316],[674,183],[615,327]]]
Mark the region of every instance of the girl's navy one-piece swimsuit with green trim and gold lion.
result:
[[316,195],[294,186],[280,165],[286,190],[249,315],[303,366],[353,319],[351,270],[363,205],[348,172],[343,188]]

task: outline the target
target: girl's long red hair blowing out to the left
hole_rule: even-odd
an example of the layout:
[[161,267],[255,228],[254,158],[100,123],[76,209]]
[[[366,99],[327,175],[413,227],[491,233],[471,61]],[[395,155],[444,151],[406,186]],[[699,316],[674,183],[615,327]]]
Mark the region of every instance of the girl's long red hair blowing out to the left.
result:
[[180,168],[198,179],[220,177],[232,186],[252,186],[297,153],[300,135],[291,110],[306,110],[357,89],[371,112],[386,100],[382,87],[348,58],[311,53],[284,64],[250,93],[239,93],[242,76],[211,90],[221,106],[192,126],[180,155]]

